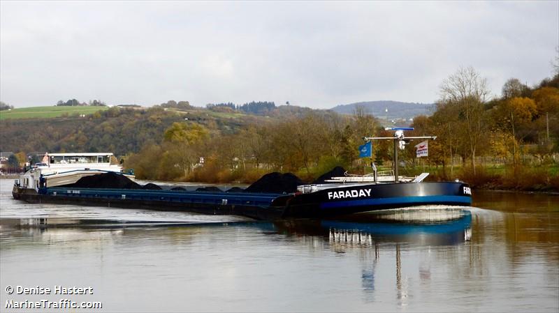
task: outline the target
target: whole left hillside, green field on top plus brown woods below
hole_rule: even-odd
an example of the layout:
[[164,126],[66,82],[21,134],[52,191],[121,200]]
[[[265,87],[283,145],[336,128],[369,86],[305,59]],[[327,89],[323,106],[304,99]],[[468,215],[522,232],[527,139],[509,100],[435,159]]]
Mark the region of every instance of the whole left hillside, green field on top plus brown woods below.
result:
[[145,107],[29,107],[1,112],[0,151],[110,151],[138,153],[161,142],[175,122],[198,123],[212,136],[231,135],[246,125],[265,125],[310,113],[328,116],[329,110],[281,105],[266,115],[211,109]]

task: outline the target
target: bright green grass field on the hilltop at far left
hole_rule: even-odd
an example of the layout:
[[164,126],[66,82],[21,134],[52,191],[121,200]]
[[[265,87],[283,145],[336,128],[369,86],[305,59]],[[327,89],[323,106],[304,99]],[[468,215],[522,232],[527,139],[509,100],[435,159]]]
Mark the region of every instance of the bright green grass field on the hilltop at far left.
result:
[[60,116],[73,116],[78,114],[92,114],[108,107],[22,107],[10,111],[0,111],[0,120],[3,119],[50,119]]

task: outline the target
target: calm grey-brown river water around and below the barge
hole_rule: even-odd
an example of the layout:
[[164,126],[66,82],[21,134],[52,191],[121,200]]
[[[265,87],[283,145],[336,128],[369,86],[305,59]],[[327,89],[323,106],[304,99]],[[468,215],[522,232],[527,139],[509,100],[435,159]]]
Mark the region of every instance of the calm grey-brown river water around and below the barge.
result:
[[[0,180],[1,312],[41,300],[49,312],[559,311],[559,195],[474,192],[438,222],[272,223],[26,204],[11,184]],[[67,300],[102,308],[55,308]]]

